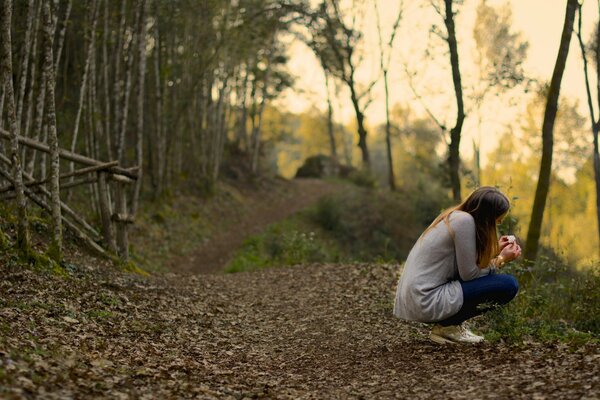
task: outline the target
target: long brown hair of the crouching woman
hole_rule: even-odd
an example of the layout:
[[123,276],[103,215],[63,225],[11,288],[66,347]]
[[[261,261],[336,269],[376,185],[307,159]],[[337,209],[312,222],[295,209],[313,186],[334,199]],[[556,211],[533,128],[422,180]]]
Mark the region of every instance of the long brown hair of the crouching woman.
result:
[[475,220],[477,264],[481,268],[485,268],[499,251],[496,220],[506,214],[509,208],[510,201],[504,193],[495,187],[482,186],[473,191],[473,193],[459,205],[451,207],[438,215],[425,230],[423,235],[433,229],[441,221],[444,221],[450,234],[454,238],[454,232],[449,223],[450,214],[457,210],[471,214]]

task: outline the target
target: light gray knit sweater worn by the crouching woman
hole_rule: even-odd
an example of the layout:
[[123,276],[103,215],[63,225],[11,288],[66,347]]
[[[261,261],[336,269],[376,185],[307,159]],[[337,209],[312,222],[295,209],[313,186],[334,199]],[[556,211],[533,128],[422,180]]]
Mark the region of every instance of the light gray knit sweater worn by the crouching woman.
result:
[[458,281],[488,273],[477,266],[475,220],[463,211],[450,214],[450,235],[443,221],[422,235],[410,251],[396,289],[394,315],[435,322],[456,314],[463,303]]

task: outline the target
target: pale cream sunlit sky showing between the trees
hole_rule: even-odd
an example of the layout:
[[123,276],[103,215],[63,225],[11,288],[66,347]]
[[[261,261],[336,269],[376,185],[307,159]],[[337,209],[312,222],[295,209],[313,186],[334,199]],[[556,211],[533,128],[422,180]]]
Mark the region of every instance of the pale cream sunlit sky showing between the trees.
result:
[[[360,13],[362,18],[358,21],[358,26],[364,33],[364,46],[362,47],[364,60],[357,76],[363,84],[367,84],[379,74],[379,45],[372,1],[366,0],[364,2],[366,6]],[[375,1],[378,1],[383,37],[384,41],[387,41],[400,9],[400,1]],[[404,65],[406,64],[410,71],[417,72],[413,82],[417,91],[423,97],[423,102],[439,120],[445,122],[447,126],[453,126],[455,100],[448,67],[447,44],[439,38],[431,37],[429,34],[432,23],[444,28],[443,21],[428,5],[427,1],[405,0],[404,3],[403,19],[390,64],[390,103],[392,105],[394,103],[410,104],[415,114],[425,116],[424,108],[415,99],[407,84],[407,75],[404,72]],[[507,0],[488,0],[487,3],[498,6],[506,4]],[[549,81],[560,43],[566,0],[509,0],[508,3],[513,11],[513,31],[521,32],[523,39],[529,42],[528,56],[525,62],[527,76]],[[350,4],[350,2],[346,4]],[[478,4],[479,0],[465,0],[456,18],[459,57],[467,106],[469,102],[467,86],[469,82],[474,81],[476,76],[475,65],[472,61],[475,55],[472,37],[475,9]],[[584,3],[583,10],[583,33],[584,38],[587,40],[593,31],[594,22],[598,18],[596,2],[587,0]],[[425,55],[428,46],[433,55]],[[288,92],[281,103],[293,112],[302,112],[311,106],[325,110],[325,81],[323,71],[316,58],[309,49],[298,42],[292,44],[289,54],[291,57],[289,67],[296,76],[297,81],[294,91]],[[588,117],[582,68],[579,45],[576,36],[573,35],[562,83],[561,97],[569,96],[580,99],[581,112]],[[595,87],[594,82],[592,82],[592,87]],[[347,100],[348,96],[345,92],[342,93],[337,105],[338,115],[336,119],[349,122],[354,118],[354,114],[351,104]],[[371,127],[385,120],[383,93],[383,83],[380,80],[375,87],[375,100],[366,113],[367,123]],[[483,162],[485,163],[485,153],[495,147],[497,138],[501,137],[500,134],[505,131],[508,123],[514,123],[520,107],[525,105],[526,102],[527,98],[522,96],[517,97],[517,104],[512,108],[508,105],[504,107],[502,104],[488,106],[491,107],[493,112],[487,113],[487,118],[483,121],[481,128],[478,128],[476,118],[467,116],[463,128],[461,152],[469,156],[472,150],[472,139],[478,137],[481,139],[484,154]]]

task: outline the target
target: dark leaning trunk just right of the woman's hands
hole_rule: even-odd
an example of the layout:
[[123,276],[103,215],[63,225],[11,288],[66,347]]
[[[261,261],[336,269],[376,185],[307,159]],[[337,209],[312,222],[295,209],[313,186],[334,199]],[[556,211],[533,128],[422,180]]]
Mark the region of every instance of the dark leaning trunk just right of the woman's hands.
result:
[[525,260],[530,261],[535,261],[537,258],[544,208],[546,207],[546,198],[550,189],[554,120],[558,111],[560,84],[567,62],[567,56],[569,55],[569,44],[571,42],[577,4],[577,0],[567,0],[565,23],[560,39],[558,57],[556,59],[552,80],[550,82],[550,89],[548,91],[546,111],[544,112],[544,123],[542,125],[542,161],[540,163],[540,174],[535,190],[535,199],[531,210],[531,220],[529,221],[529,229],[527,231],[527,242],[523,254]]

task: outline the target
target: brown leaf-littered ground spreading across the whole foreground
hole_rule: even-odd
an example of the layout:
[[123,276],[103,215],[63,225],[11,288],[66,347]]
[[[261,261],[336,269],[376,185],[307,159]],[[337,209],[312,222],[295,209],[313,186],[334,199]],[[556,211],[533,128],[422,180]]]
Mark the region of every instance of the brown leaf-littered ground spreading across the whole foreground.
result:
[[70,258],[56,275],[0,256],[0,398],[600,398],[597,345],[430,342],[392,315],[399,265],[144,277]]

